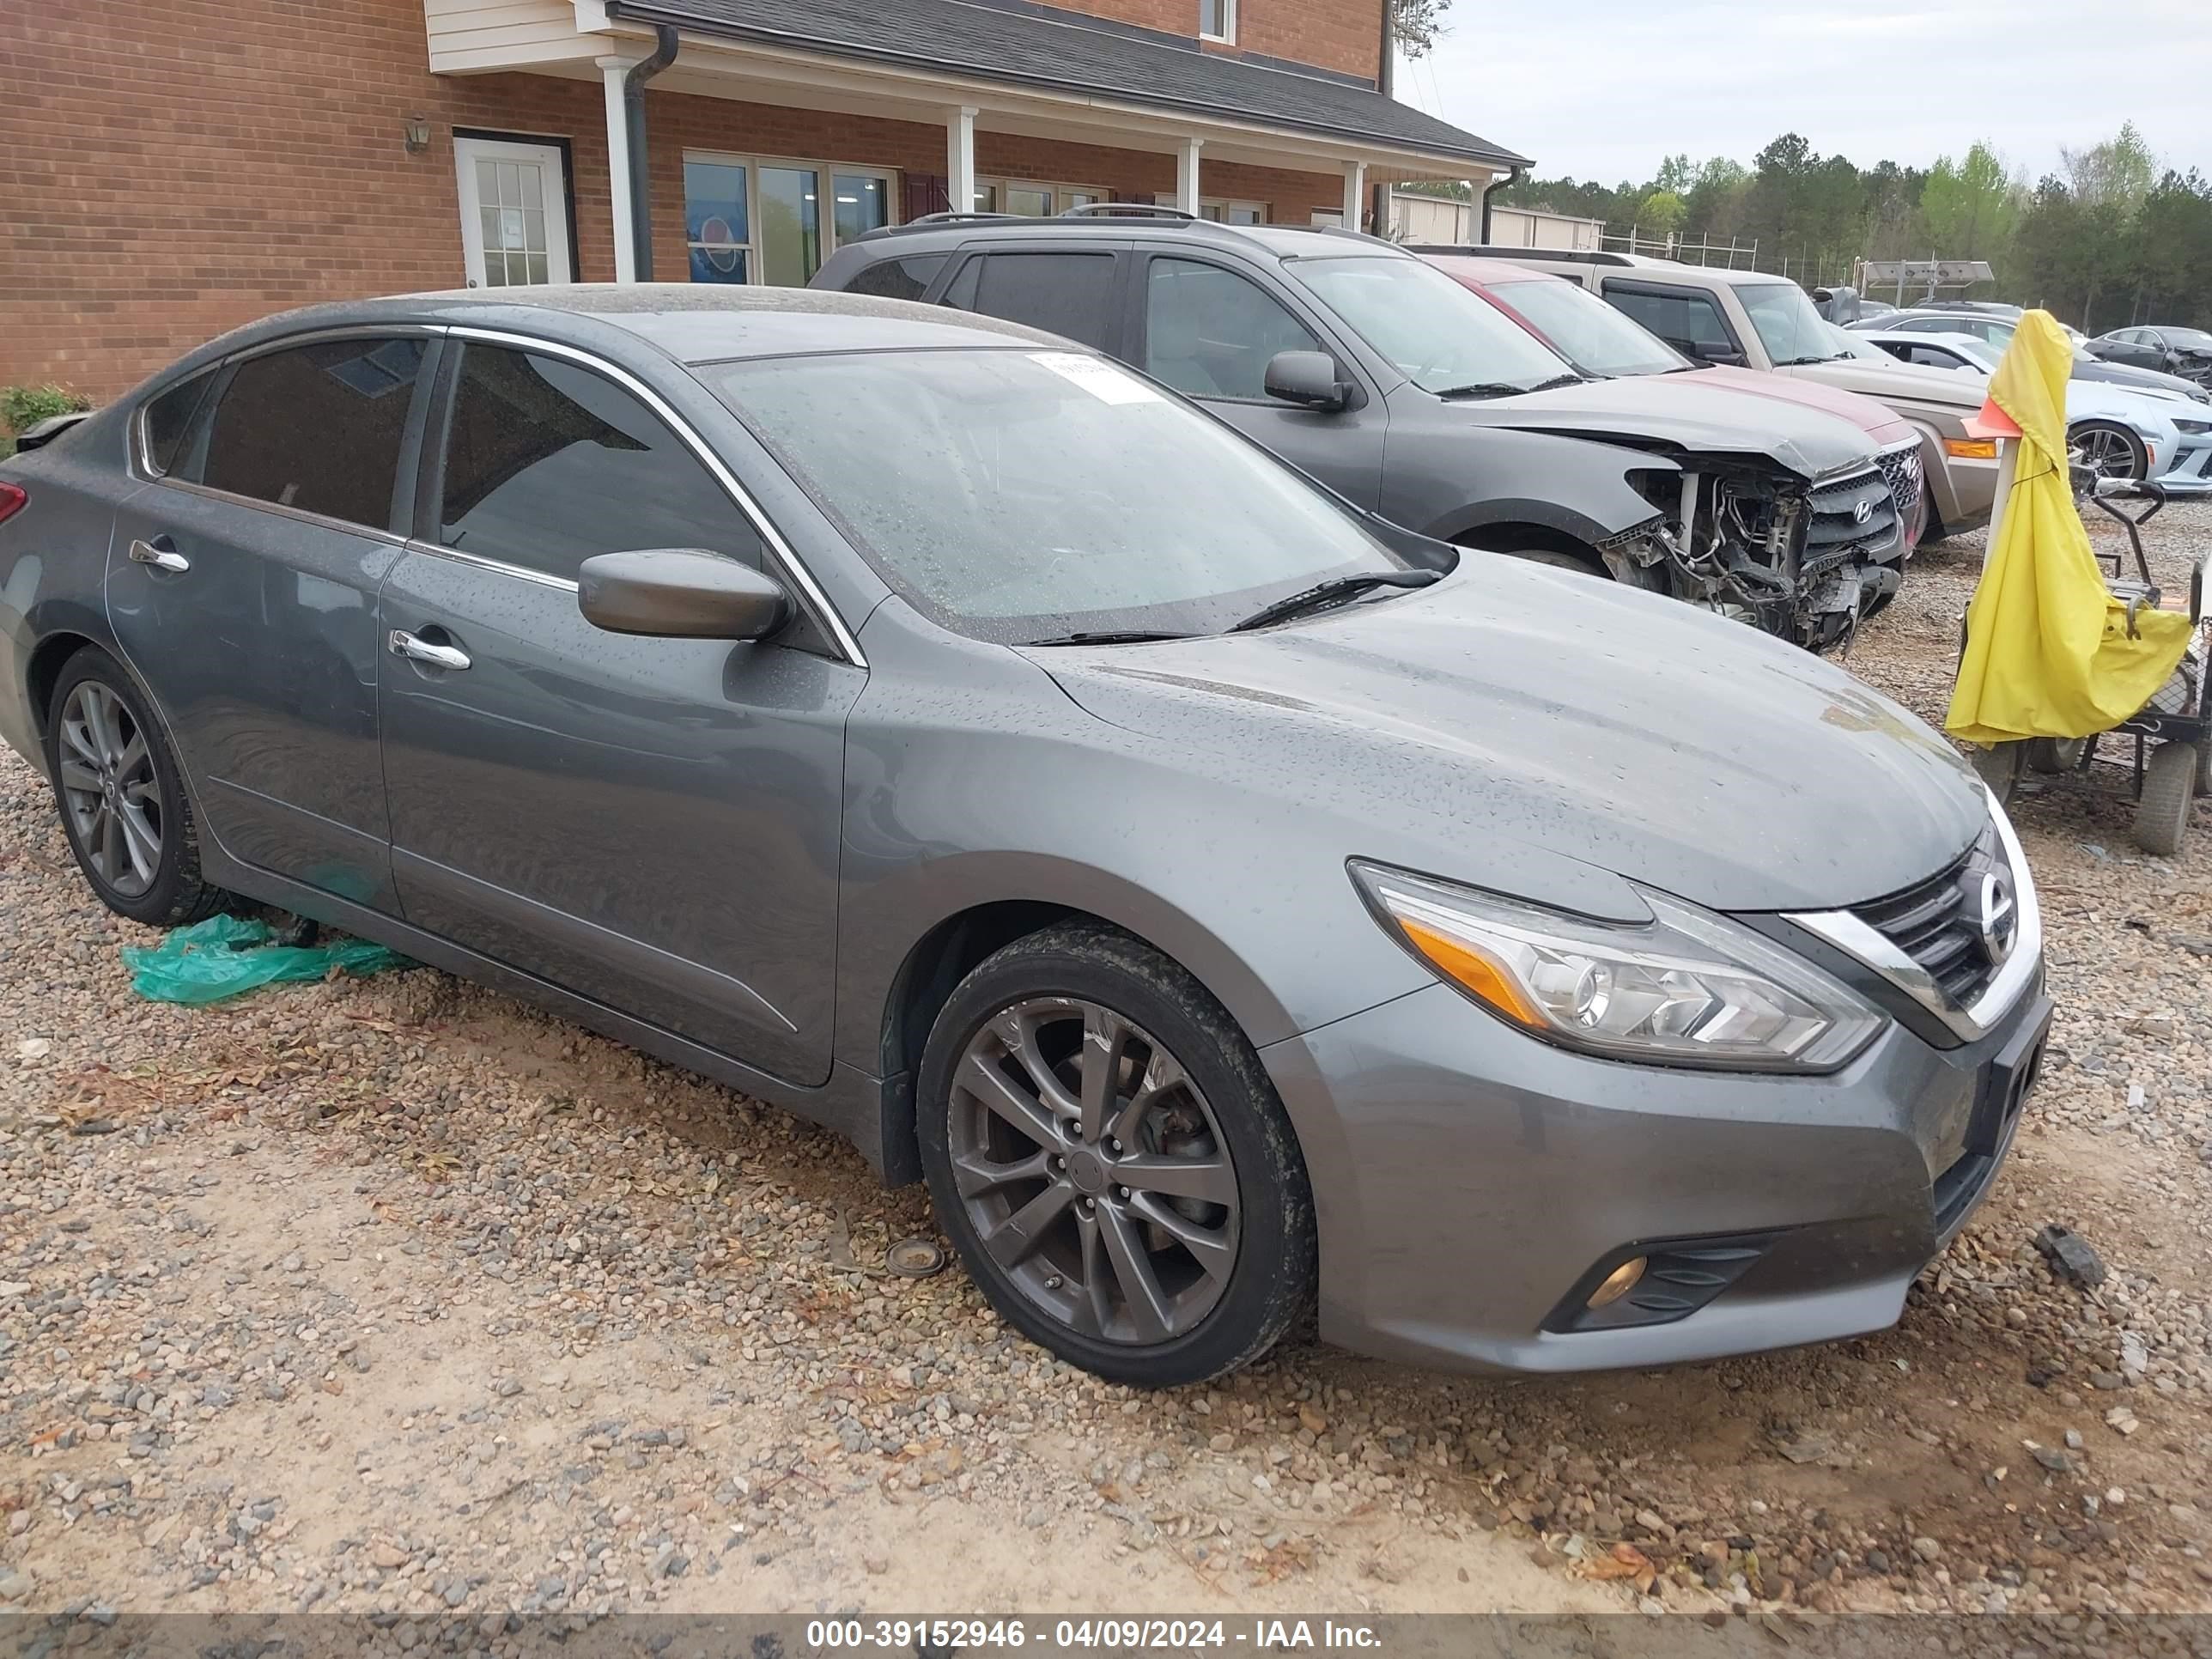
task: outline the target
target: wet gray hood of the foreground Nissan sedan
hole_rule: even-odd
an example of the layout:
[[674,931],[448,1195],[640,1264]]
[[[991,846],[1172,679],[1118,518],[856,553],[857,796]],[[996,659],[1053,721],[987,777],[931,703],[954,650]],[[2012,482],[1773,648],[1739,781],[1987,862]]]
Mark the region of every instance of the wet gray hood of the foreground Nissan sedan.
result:
[[1955,750],[1840,668],[1500,555],[1250,635],[1029,655],[1093,717],[1389,843],[1345,856],[1413,847],[1509,894],[1566,856],[1712,909],[1834,909],[1986,823]]

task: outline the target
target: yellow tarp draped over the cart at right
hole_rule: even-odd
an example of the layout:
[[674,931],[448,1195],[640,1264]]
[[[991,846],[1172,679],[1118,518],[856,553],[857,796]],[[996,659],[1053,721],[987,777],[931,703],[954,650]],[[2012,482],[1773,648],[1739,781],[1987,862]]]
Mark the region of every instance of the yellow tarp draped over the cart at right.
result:
[[1989,380],[2026,434],[2004,522],[1966,606],[1966,655],[1944,730],[1969,743],[2090,737],[2132,717],[2190,646],[2190,619],[2128,608],[2104,586],[2066,476],[2073,345],[2028,312]]

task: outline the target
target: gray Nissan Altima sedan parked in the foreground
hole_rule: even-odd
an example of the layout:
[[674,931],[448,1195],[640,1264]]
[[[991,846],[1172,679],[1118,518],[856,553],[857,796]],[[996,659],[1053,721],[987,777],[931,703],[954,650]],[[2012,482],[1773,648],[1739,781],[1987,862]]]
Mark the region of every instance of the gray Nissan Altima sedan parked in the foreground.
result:
[[215,341],[0,462],[0,734],[111,909],[823,1121],[1144,1385],[1316,1294],[1515,1371],[1889,1325],[2051,1018],[2011,825],[1845,672],[896,301]]

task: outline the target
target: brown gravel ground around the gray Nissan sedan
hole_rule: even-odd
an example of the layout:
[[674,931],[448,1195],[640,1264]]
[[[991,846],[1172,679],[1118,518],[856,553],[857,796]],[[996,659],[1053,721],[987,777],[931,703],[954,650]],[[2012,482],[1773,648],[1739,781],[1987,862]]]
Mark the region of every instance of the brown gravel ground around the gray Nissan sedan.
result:
[[[1931,719],[1978,557],[1922,553],[1851,659]],[[500,995],[139,1002],[150,936],[0,761],[0,1601],[2212,1608],[2212,823],[2137,858],[2121,796],[2015,810],[2053,1066],[1896,1332],[1566,1383],[1305,1338],[1139,1396],[885,1276],[918,1190]]]

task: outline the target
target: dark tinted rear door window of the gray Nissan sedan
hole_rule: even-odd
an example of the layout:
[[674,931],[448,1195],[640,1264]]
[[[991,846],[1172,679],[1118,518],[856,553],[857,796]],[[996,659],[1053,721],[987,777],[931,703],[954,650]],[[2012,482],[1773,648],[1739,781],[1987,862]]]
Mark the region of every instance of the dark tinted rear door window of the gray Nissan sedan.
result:
[[248,358],[217,398],[190,482],[392,529],[420,338],[294,345]]

